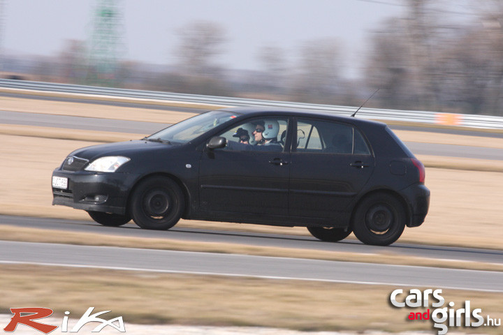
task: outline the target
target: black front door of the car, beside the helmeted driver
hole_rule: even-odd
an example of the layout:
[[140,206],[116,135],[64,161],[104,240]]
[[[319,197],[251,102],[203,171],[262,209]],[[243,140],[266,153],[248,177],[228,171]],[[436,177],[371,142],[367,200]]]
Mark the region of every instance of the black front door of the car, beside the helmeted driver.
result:
[[[204,149],[199,170],[199,199],[203,211],[260,215],[288,214],[290,153],[283,149],[281,136],[288,119],[275,118],[277,145],[238,144],[239,128],[254,131],[252,119],[224,133],[223,149]],[[266,120],[267,121],[267,120]],[[249,134],[254,142],[254,134]],[[272,136],[272,135],[271,135]],[[229,144],[229,142],[233,142]]]

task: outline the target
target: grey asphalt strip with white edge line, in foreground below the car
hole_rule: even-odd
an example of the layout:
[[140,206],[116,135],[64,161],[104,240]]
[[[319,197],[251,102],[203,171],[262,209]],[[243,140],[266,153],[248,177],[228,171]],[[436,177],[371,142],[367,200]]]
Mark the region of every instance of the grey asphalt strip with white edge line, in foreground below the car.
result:
[[503,292],[503,272],[0,241],[0,263]]

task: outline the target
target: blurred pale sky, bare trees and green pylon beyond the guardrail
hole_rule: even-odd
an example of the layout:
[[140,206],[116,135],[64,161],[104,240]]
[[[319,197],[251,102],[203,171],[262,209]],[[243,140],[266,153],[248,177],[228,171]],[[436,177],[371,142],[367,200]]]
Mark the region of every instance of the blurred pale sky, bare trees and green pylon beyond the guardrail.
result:
[[0,0],[1,77],[503,115],[501,0]]

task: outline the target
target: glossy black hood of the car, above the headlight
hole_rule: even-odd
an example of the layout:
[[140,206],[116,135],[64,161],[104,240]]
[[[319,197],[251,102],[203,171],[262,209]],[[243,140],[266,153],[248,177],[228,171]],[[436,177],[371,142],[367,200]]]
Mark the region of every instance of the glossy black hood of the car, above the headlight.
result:
[[128,142],[99,144],[93,145],[92,147],[77,149],[68,156],[85,158],[89,161],[105,156],[126,156],[133,158],[134,156],[145,154],[148,151],[159,151],[176,147],[180,147],[180,145],[151,142],[147,140],[131,140]]

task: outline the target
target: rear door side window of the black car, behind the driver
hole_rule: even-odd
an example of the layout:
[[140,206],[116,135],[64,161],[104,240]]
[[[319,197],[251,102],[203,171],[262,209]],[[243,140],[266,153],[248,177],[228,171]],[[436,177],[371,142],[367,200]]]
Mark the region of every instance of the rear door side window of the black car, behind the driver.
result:
[[297,143],[298,152],[370,155],[367,142],[356,128],[330,121],[299,119]]

